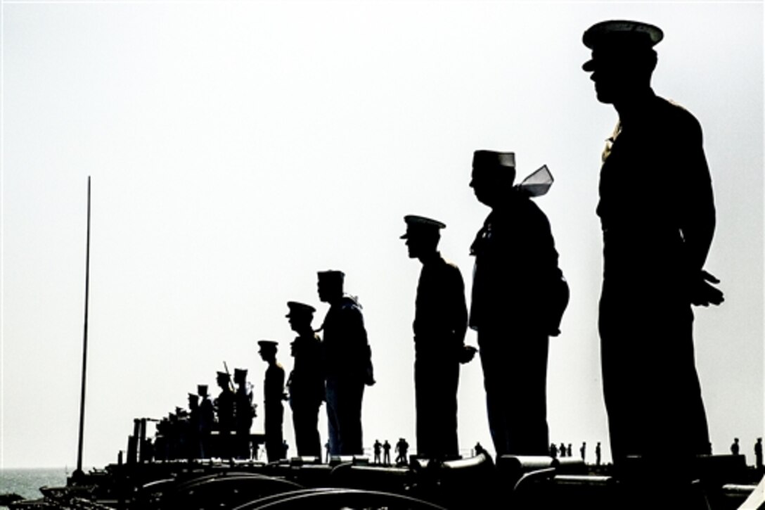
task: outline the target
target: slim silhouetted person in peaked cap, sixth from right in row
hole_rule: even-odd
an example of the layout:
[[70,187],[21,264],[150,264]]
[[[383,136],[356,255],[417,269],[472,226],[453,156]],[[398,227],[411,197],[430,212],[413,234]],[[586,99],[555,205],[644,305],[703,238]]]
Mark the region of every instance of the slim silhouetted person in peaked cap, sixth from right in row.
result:
[[285,458],[282,421],[284,420],[285,369],[276,361],[277,342],[259,340],[260,357],[269,364],[263,381],[263,407],[265,408],[265,454],[269,463]]

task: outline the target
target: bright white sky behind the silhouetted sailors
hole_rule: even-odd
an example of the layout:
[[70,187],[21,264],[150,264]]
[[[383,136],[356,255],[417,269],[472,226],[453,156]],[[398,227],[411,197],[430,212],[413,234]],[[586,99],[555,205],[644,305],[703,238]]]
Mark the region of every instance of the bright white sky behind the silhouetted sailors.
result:
[[[414,443],[420,265],[402,217],[448,225],[441,251],[469,289],[488,213],[467,186],[474,149],[516,152],[521,178],[543,163],[555,175],[538,203],[571,305],[550,350],[551,440],[586,441],[590,459],[602,441],[608,458],[594,209],[617,117],[581,70],[581,34],[609,18],[665,31],[654,89],[705,130],[718,207],[707,269],[726,301],[696,314],[697,366],[715,452],[738,436],[754,462],[762,2],[4,2],[0,466],[76,463],[88,175],[86,466],[116,461],[134,417],[214,387],[223,361],[249,368],[262,400],[256,341],[281,342],[289,370],[286,302],[314,304],[321,325],[315,273],[330,268],[360,296],[373,346],[365,443]],[[477,360],[459,402],[461,447],[490,446]],[[289,412],[285,434],[294,445]]]

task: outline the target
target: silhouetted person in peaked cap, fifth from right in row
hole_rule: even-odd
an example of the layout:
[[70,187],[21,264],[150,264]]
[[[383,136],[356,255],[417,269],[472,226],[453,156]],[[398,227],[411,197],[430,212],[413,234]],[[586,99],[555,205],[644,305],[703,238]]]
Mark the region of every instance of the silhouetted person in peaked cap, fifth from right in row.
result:
[[318,423],[319,407],[324,400],[324,374],[321,371],[321,340],[311,327],[316,309],[295,301],[288,302],[287,306],[289,325],[298,333],[290,344],[295,366],[287,382],[295,446],[298,456],[321,459]]

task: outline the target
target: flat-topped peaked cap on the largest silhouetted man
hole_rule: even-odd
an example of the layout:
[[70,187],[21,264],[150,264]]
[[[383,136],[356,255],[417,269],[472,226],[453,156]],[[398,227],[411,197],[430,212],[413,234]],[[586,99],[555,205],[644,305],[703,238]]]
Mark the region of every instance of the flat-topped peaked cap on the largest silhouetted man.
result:
[[664,38],[661,28],[643,21],[609,20],[584,31],[581,41],[592,50],[582,69],[593,71],[598,64],[631,64],[634,57],[653,55],[653,47]]

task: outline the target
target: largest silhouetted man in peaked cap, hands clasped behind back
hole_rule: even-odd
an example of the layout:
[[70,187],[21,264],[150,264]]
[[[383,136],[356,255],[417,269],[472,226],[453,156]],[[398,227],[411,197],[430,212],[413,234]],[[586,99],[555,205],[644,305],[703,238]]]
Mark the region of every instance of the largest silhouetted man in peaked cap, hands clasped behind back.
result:
[[[656,96],[653,46],[662,31],[603,21],[584,32],[597,100],[619,115],[601,166],[604,278],[601,367],[611,452],[710,453],[693,352],[691,305],[719,304],[703,270],[715,231],[698,120]],[[684,438],[677,447],[675,438]]]

